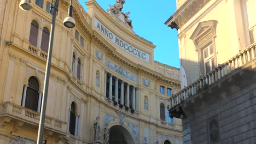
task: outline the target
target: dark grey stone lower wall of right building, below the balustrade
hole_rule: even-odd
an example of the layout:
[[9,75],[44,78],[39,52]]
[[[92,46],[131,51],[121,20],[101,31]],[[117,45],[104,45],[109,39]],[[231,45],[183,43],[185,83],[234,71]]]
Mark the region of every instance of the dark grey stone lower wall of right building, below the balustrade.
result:
[[184,101],[184,144],[256,142],[255,62]]

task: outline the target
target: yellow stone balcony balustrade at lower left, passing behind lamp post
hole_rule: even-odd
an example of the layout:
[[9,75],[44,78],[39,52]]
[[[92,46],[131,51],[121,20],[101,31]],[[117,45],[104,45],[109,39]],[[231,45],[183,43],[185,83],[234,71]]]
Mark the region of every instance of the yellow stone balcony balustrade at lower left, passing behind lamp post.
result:
[[[0,116],[8,116],[13,119],[18,119],[22,122],[37,125],[40,121],[40,113],[10,102],[5,102],[0,105]],[[62,122],[59,119],[46,116],[45,128],[53,131],[59,131],[61,134],[65,134],[66,122]]]

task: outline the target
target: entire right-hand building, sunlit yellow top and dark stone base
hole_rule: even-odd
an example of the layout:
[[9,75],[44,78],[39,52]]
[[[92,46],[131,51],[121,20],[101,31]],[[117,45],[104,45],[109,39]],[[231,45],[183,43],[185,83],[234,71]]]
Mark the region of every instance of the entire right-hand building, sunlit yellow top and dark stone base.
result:
[[182,90],[169,112],[183,143],[255,143],[256,1],[176,2],[165,24],[178,30]]

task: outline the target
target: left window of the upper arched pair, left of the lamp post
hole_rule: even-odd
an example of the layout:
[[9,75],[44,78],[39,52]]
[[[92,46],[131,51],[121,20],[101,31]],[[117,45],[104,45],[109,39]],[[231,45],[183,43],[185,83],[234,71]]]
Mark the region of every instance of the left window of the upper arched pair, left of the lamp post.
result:
[[30,27],[30,44],[37,46],[37,35],[38,35],[38,23],[33,20]]

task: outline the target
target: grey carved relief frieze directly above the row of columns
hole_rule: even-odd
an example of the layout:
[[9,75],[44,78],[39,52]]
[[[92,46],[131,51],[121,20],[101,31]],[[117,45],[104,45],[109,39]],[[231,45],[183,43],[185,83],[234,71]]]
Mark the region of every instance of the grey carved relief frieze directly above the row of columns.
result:
[[125,79],[129,79],[133,82],[137,83],[137,76],[129,73],[127,70],[125,70],[123,67],[118,67],[118,65],[115,65],[113,62],[109,61],[108,59],[105,59],[105,65],[115,71],[120,76],[124,77]]

